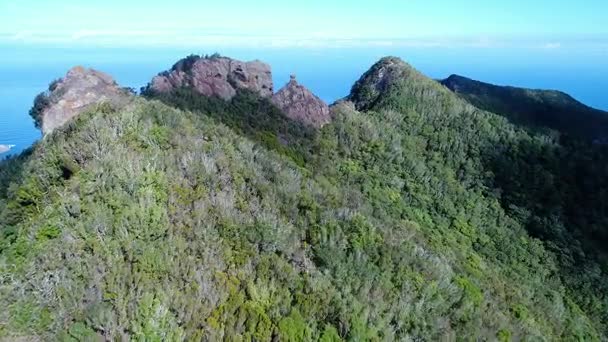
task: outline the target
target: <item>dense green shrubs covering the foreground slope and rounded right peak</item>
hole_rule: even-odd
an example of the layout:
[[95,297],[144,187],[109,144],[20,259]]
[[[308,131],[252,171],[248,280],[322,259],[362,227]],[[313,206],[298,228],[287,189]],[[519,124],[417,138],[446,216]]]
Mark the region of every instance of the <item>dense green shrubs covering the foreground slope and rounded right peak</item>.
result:
[[320,131],[251,93],[147,95],[0,164],[0,336],[608,335],[603,146],[392,58]]

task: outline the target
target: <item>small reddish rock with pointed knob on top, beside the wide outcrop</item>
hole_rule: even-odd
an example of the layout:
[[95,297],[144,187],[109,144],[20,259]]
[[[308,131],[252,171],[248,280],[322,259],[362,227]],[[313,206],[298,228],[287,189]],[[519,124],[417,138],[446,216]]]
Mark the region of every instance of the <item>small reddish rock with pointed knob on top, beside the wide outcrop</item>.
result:
[[292,120],[322,127],[331,121],[329,107],[310,90],[300,85],[295,76],[272,96],[272,102]]

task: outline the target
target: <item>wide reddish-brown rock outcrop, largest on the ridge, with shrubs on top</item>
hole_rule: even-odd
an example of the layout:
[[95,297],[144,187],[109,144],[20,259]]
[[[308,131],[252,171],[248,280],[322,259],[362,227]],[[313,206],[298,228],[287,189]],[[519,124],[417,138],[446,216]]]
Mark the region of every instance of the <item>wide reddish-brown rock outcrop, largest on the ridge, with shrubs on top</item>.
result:
[[148,88],[161,93],[192,87],[205,96],[229,100],[237,89],[258,92],[263,97],[273,93],[270,66],[261,61],[241,62],[226,57],[187,57],[170,71],[152,79]]

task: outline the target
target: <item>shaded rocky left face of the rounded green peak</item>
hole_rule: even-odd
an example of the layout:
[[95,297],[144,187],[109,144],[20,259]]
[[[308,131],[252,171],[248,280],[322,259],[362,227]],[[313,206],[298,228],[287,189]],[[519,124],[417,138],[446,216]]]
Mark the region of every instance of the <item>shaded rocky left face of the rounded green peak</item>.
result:
[[395,82],[411,74],[417,74],[417,71],[401,58],[384,57],[353,85],[347,99],[352,101],[358,110],[369,109]]

